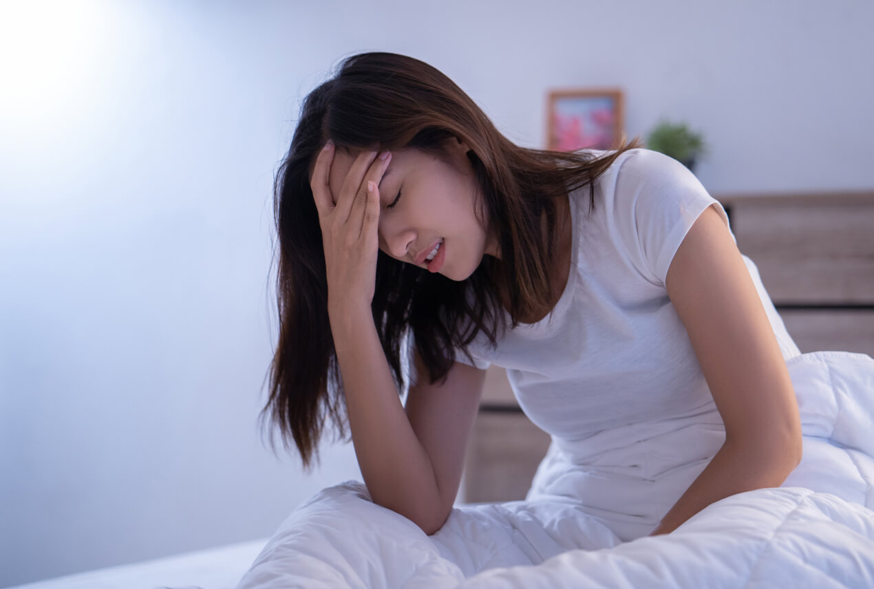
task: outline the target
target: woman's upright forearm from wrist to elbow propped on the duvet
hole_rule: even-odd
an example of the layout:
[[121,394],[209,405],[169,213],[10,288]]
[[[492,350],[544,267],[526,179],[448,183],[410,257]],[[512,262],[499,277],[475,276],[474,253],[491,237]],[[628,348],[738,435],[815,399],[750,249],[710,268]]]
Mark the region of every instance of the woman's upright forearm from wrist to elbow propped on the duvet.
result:
[[440,491],[385,359],[370,308],[329,313],[352,443],[373,502],[431,534],[446,519]]

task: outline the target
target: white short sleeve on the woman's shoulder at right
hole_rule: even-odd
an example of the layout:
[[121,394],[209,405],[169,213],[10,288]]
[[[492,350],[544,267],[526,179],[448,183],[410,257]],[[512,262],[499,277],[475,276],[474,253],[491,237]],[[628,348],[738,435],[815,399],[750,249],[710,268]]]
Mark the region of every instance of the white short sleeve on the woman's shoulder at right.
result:
[[[728,215],[683,163],[650,149],[629,149],[616,176],[614,228],[643,276],[664,286],[668,267],[697,218],[708,206]],[[732,233],[732,239],[737,239]]]

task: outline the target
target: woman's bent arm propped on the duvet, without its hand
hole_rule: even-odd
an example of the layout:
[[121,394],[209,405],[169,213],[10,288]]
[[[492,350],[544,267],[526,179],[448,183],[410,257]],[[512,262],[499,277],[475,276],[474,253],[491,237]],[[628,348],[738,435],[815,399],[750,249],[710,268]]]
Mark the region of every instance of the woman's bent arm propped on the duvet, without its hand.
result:
[[485,371],[455,363],[443,386],[429,385],[417,356],[405,412],[369,313],[330,316],[364,484],[373,502],[433,534],[458,491]]

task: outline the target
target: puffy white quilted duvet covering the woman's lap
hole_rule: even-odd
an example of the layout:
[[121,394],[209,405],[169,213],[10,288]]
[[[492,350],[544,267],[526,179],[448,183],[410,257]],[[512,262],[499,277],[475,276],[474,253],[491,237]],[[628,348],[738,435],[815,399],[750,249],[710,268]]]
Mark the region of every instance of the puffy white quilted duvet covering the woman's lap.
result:
[[[430,537],[360,482],[324,489],[281,524],[238,589],[874,587],[874,359],[815,352],[787,366],[801,464],[779,489],[726,497],[668,535],[623,541],[573,500],[586,473],[547,455],[528,501],[456,507]],[[653,501],[676,501],[704,466]]]

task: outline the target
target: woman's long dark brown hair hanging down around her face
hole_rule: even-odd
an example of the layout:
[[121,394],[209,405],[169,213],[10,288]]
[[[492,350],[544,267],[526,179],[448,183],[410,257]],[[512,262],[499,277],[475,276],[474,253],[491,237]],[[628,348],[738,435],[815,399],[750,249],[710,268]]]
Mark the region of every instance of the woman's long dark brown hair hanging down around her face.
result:
[[[470,147],[479,188],[475,209],[486,213],[500,260],[483,256],[464,281],[378,253],[373,320],[392,378],[405,390],[401,347],[406,336],[427,366],[432,383],[444,379],[459,349],[479,332],[496,345],[521,317],[551,308],[558,298],[553,274],[556,202],[591,186],[637,138],[600,158],[592,152],[518,147],[507,140],[474,100],[452,80],[419,59],[367,52],[343,59],[333,78],[302,102],[300,119],[274,180],[274,219],[279,241],[276,276],[280,332],[270,364],[269,414],[285,447],[293,439],[303,466],[318,459],[326,421],[346,438],[345,398],[328,319],[328,284],[322,231],[309,186],[309,168],[329,139],[348,149],[422,149],[440,156],[442,142]],[[542,225],[545,218],[545,227]],[[273,430],[271,430],[273,433]],[[273,436],[271,435],[271,445]]]

